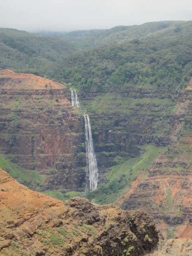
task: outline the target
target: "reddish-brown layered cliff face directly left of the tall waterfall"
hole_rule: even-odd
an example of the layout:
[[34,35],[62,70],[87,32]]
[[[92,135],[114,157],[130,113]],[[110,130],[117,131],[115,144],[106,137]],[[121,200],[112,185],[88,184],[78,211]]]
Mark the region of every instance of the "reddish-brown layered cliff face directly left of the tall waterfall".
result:
[[76,190],[84,186],[85,171],[77,159],[84,142],[84,122],[68,98],[70,90],[62,84],[0,71],[2,161],[21,182],[15,166],[28,170],[36,184],[26,177],[24,183],[32,183],[32,188]]

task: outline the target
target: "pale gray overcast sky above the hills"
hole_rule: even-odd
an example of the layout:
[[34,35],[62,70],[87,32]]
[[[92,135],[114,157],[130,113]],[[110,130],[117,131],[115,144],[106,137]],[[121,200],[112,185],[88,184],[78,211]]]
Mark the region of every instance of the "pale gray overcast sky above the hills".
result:
[[192,0],[0,0],[0,27],[72,31],[192,20]]

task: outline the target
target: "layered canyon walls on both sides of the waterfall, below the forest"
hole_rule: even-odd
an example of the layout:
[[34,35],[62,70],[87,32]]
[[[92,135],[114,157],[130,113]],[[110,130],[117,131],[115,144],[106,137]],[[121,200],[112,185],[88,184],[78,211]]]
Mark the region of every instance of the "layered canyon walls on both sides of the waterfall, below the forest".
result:
[[[46,78],[18,74],[10,70],[0,71],[0,84],[1,167],[33,190],[57,190],[63,191],[64,194],[70,191],[84,192],[86,188],[88,190],[84,115],[82,109],[72,106],[69,88]],[[84,100],[81,100],[84,109],[90,99],[101,99],[101,109],[98,108],[96,115],[90,113],[90,120],[98,161],[98,180],[100,184],[104,182],[104,186],[109,186],[106,187],[107,192],[100,192],[102,186],[96,190],[96,193],[101,193],[102,198],[106,198],[102,204],[114,202],[124,210],[136,208],[148,211],[156,219],[165,238],[190,237],[192,232],[191,138],[189,134],[185,135],[185,130],[190,129],[190,118],[187,117],[191,111],[191,88],[192,80],[181,96],[176,92],[170,101],[168,94],[167,98],[163,99],[164,102],[167,101],[166,105],[156,104],[156,107],[152,99],[162,98],[158,91],[151,91],[150,98],[148,93],[139,92],[139,101],[135,94],[137,89],[128,94],[124,91],[123,97],[135,102],[134,108],[133,103],[127,105],[123,101],[121,94],[116,98],[110,94],[110,99],[105,100],[105,103],[102,98],[106,99],[106,94],[95,94],[94,98],[90,94],[79,96],[80,100],[84,97]],[[145,103],[139,103],[142,101]],[[117,102],[119,105],[116,107],[116,114],[107,114],[106,110],[103,112],[106,105],[111,106]],[[104,107],[101,104],[104,104]],[[119,116],[118,111],[131,108],[129,114]],[[162,109],[166,115],[163,120],[159,120],[156,117]],[[137,124],[133,121],[136,112]],[[144,112],[146,114],[143,116]],[[142,122],[139,122],[141,118]],[[125,127],[128,132],[124,131]],[[164,127],[167,132],[160,134]],[[150,153],[150,144],[154,144],[154,156]],[[145,152],[148,152],[147,159],[150,160],[140,158]],[[126,163],[127,159],[138,159],[136,166],[139,164],[139,168],[134,165],[132,167],[135,168],[134,176],[130,162]],[[142,166],[142,161],[149,162],[146,168]],[[120,187],[123,188],[120,190],[122,196],[118,197],[114,188],[112,194],[107,196],[111,186],[110,176],[107,175],[113,173],[113,166],[128,169],[128,172],[123,171],[123,174],[118,172],[119,170],[116,171],[117,183],[113,183],[114,188],[118,182],[124,182],[124,187]],[[99,203],[99,198],[100,194],[96,194],[89,199]]]

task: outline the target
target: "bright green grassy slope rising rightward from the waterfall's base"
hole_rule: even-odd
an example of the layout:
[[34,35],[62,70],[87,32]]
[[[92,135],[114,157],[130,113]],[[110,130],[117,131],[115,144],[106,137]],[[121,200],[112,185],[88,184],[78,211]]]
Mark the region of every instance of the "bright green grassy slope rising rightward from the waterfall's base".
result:
[[[143,154],[139,157],[112,166],[111,171],[106,174],[107,184],[100,184],[99,188],[90,191],[86,197],[94,203],[110,204],[119,200],[131,183],[144,171],[152,165],[152,162],[165,150],[164,147],[155,147],[152,145],[143,146]],[[146,173],[147,174],[147,173]]]

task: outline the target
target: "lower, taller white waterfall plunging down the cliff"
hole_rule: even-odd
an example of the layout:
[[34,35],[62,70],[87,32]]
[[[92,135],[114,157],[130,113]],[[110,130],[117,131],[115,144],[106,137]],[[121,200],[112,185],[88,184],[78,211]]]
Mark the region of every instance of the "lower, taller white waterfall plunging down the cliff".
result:
[[86,142],[86,190],[96,190],[98,184],[98,169],[96,156],[94,154],[93,139],[91,133],[91,124],[88,115],[84,115],[85,119],[85,142]]

